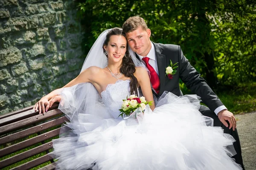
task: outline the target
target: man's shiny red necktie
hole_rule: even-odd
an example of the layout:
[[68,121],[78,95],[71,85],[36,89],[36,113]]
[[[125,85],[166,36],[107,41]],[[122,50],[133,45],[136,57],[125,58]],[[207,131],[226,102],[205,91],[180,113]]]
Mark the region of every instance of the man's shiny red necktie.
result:
[[160,79],[157,75],[157,72],[154,70],[154,68],[150,64],[148,64],[148,60],[149,60],[148,57],[143,57],[142,60],[145,62],[146,67],[150,71],[150,82],[151,82],[154,90],[157,92],[157,94],[159,94]]

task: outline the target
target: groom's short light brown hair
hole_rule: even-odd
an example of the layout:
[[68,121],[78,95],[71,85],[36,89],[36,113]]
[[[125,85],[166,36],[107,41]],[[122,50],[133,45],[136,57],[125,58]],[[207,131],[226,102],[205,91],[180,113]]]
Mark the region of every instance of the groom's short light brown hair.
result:
[[148,26],[142,17],[129,17],[122,26],[123,33],[128,33],[141,27],[143,30],[147,30]]

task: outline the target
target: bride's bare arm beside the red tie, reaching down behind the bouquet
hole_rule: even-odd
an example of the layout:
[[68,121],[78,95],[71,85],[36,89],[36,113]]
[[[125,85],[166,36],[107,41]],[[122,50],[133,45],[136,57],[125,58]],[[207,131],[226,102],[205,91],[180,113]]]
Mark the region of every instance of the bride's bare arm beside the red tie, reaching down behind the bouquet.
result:
[[137,67],[134,73],[134,76],[137,78],[141,91],[145,99],[149,102],[152,101],[152,105],[150,106],[151,110],[154,111],[154,97],[151,90],[150,79],[148,76],[148,72],[143,67]]

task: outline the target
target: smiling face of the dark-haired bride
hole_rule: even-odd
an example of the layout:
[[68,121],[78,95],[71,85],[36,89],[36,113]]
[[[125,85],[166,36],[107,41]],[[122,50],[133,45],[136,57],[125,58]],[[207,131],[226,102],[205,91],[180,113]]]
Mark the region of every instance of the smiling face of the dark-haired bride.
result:
[[122,35],[111,35],[108,45],[104,46],[108,51],[108,62],[122,62],[126,52],[127,41]]

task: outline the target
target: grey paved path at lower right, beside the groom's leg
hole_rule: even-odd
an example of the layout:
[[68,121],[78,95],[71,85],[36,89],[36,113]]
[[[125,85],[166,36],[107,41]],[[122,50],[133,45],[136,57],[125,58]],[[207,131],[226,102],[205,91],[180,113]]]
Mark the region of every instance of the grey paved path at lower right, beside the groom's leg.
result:
[[256,170],[256,112],[235,115],[245,170]]

